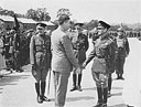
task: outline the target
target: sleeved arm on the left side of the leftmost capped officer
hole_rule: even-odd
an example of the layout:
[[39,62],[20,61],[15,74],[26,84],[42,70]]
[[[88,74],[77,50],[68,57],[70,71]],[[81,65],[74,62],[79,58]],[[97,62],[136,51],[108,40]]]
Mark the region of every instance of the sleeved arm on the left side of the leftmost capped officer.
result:
[[[34,35],[33,35],[34,36]],[[33,65],[35,62],[35,57],[34,57],[34,38],[31,38],[31,42],[30,42],[30,63]]]

